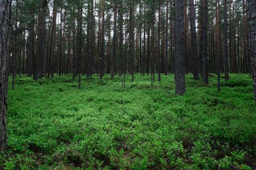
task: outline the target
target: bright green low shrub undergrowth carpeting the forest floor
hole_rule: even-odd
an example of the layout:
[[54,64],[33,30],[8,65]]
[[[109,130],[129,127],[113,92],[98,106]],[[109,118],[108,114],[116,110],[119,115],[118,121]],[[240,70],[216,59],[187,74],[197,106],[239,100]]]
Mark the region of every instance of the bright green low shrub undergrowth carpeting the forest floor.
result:
[[[16,77],[9,89],[4,170],[254,170],[256,113],[252,78],[186,75]],[[11,87],[11,79],[9,87]]]

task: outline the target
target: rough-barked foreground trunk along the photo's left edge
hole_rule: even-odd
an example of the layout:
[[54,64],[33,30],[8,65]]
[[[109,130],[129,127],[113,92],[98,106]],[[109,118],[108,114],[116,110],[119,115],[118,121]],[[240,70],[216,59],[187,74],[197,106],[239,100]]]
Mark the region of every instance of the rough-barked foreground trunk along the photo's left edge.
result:
[[0,1],[0,152],[7,147],[7,91],[9,35],[11,28],[11,0]]

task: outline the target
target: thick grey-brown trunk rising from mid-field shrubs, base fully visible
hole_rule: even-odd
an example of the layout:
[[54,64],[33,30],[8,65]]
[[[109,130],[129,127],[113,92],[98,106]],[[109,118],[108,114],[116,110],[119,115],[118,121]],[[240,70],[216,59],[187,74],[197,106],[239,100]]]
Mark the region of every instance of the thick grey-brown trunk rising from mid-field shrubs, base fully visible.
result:
[[184,15],[183,0],[175,0],[176,11],[176,64],[175,93],[183,95],[185,89],[185,57],[184,57]]

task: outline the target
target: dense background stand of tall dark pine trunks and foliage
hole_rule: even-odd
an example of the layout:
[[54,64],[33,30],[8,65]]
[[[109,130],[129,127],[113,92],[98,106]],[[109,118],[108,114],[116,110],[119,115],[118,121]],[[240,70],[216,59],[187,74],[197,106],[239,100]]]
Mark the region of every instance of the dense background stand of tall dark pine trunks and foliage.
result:
[[[34,79],[98,73],[102,79],[104,73],[175,72],[175,0],[12,3],[11,73]],[[198,79],[204,70],[225,72],[228,80],[228,73],[250,72],[245,3],[184,0],[185,73]]]

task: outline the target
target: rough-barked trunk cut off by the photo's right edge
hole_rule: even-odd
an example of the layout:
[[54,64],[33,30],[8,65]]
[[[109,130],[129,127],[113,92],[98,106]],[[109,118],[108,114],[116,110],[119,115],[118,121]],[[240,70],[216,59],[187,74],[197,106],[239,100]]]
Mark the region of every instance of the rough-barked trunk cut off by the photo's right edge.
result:
[[249,55],[252,64],[252,85],[254,90],[254,101],[256,105],[256,1],[247,0],[247,20],[249,34]]

